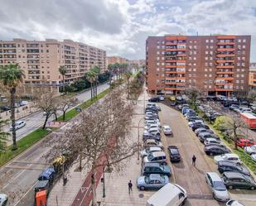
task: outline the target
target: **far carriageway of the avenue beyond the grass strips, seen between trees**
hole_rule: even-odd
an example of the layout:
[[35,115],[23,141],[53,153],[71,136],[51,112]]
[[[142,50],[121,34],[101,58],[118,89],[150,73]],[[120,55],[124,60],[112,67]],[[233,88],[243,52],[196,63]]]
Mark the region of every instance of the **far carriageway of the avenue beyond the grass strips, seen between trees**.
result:
[[[105,89],[109,88],[109,84],[102,84],[98,87],[98,93],[101,93]],[[77,94],[76,98],[78,98],[79,103],[83,103],[86,100],[90,98],[90,90]],[[70,108],[71,109],[71,108]],[[60,112],[58,112],[58,115],[61,115]],[[54,119],[53,116],[50,117],[48,122],[51,122]],[[27,134],[35,131],[39,127],[42,127],[45,122],[45,117],[43,116],[43,112],[37,112],[33,113],[27,117],[22,118],[22,120],[26,121],[26,126],[22,127],[21,129],[17,130],[17,140],[22,139],[22,137],[27,136]],[[10,129],[10,126],[5,127],[4,131],[8,132]],[[10,144],[12,143],[12,136],[9,137]]]

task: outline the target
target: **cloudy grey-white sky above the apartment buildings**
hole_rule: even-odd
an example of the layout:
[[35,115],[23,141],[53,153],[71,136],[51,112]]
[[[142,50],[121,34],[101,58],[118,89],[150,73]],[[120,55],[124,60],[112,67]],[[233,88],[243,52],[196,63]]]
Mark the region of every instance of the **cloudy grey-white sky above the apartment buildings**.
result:
[[145,59],[147,36],[251,35],[256,0],[0,0],[0,39],[72,39],[107,55]]

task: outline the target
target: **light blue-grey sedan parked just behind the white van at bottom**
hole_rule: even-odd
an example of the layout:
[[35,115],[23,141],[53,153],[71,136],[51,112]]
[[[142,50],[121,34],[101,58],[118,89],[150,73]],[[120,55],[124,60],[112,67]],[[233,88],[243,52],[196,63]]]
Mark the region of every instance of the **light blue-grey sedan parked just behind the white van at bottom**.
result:
[[167,175],[151,174],[140,176],[137,179],[137,187],[140,190],[145,189],[160,189],[169,182]]

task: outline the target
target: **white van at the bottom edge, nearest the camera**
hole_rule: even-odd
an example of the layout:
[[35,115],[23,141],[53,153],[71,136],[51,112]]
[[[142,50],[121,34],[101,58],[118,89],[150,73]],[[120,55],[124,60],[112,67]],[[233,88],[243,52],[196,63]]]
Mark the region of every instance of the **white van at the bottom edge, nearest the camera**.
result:
[[147,200],[146,206],[178,206],[186,202],[186,190],[178,184],[168,183]]

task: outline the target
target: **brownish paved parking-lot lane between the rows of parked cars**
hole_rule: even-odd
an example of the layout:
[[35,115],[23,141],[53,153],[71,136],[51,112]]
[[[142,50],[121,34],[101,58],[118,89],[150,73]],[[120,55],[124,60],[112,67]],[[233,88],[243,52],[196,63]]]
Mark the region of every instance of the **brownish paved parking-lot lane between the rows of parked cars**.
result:
[[[181,162],[172,163],[172,170],[176,184],[181,184],[188,193],[186,205],[192,206],[215,206],[225,205],[212,199],[212,193],[205,182],[205,172],[218,173],[213,158],[206,156],[204,146],[198,140],[195,133],[188,127],[185,117],[181,113],[164,104],[162,108],[162,125],[169,125],[173,131],[173,137],[162,137],[164,146],[178,146],[181,153]],[[196,156],[196,168],[191,164],[192,156]],[[230,189],[231,199],[239,199],[245,205],[254,205],[256,191],[247,189]]]

